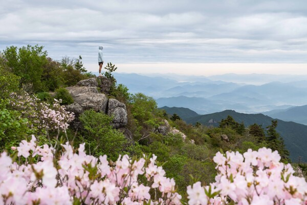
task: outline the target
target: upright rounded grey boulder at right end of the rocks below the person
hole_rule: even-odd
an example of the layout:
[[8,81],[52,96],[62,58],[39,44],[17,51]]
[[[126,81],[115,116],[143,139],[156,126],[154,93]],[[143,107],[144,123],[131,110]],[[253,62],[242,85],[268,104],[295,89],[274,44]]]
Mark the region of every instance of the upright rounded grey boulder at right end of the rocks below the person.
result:
[[108,100],[107,114],[114,117],[112,121],[114,128],[124,127],[128,123],[126,105],[117,99]]

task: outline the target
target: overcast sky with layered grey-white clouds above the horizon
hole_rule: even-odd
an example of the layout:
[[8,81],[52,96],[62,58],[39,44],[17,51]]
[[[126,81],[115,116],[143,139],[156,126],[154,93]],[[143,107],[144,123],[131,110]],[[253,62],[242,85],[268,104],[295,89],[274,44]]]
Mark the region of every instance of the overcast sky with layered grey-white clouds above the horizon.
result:
[[1,50],[39,44],[91,71],[103,45],[123,72],[307,74],[306,0],[0,0],[0,28]]

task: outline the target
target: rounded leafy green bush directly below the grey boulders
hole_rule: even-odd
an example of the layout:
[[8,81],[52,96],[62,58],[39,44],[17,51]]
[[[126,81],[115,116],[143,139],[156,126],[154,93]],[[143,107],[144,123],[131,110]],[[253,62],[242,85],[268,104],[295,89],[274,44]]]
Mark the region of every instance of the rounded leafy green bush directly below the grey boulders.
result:
[[113,161],[116,161],[119,154],[126,154],[127,140],[121,132],[111,126],[111,117],[87,110],[79,119],[83,125],[83,138],[77,143],[84,141],[88,152],[95,156],[106,154]]

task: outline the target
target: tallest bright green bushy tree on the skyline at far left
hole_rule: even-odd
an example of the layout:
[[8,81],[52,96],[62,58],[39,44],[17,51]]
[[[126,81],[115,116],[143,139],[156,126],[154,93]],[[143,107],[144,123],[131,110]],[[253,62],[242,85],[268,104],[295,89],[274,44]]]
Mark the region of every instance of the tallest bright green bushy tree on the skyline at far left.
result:
[[7,66],[12,72],[20,76],[20,84],[32,84],[34,91],[43,90],[41,75],[43,67],[47,64],[47,51],[43,46],[23,46],[19,49],[11,46],[4,50]]

